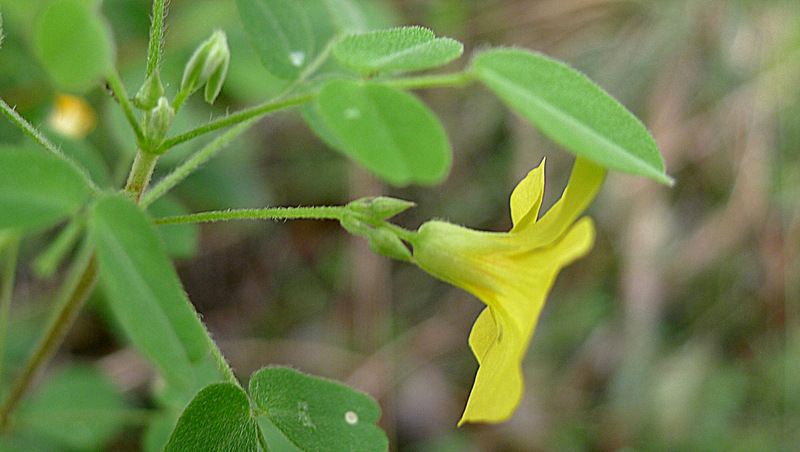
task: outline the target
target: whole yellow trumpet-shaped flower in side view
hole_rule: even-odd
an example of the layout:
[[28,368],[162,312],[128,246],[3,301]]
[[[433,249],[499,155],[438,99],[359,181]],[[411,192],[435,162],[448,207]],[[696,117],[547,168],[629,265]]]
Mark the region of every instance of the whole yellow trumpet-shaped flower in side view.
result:
[[544,161],[511,194],[514,227],[483,232],[442,221],[423,224],[414,240],[416,264],[486,303],[469,345],[479,368],[459,421],[502,422],[522,398],[522,360],[558,272],[589,252],[592,220],[576,218],[594,199],[605,168],[577,159],[561,199],[537,220]]

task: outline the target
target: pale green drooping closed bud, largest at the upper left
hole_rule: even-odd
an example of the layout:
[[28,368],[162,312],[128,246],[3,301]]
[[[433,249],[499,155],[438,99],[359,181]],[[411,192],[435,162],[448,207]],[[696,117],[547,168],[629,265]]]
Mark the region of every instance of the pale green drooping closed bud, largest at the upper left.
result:
[[[214,88],[208,94],[219,93],[222,82],[228,72],[231,52],[225,32],[216,30],[211,37],[203,41],[189,58],[181,78],[181,91],[193,93],[206,84],[214,76]],[[222,68],[222,69],[221,69]],[[206,95],[208,99],[209,95]],[[213,96],[216,97],[216,94]]]

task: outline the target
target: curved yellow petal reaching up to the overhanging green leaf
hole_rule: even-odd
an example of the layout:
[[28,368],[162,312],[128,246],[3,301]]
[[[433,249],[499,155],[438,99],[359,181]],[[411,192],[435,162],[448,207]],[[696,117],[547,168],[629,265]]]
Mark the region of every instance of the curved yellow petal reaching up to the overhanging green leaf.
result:
[[605,177],[605,167],[576,158],[561,199],[536,222],[535,228],[530,228],[532,243],[545,246],[563,234],[591,204]]

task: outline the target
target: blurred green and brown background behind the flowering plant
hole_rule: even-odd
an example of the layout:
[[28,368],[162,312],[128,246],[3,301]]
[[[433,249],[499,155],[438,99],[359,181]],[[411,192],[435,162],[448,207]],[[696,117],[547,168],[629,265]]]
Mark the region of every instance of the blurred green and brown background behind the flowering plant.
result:
[[[305,1],[305,0],[300,0]],[[309,0],[310,1],[310,0]],[[134,150],[105,90],[82,140],[48,130],[56,93],[27,31],[43,0],[0,0],[0,96],[120,185]],[[386,24],[421,24],[465,43],[542,51],[580,69],[651,129],[673,188],[611,174],[590,208],[597,244],[559,276],[524,364],[526,394],[507,423],[456,428],[476,370],[467,337],[482,304],[416,268],[374,255],[333,222],[164,230],[186,290],[242,378],[287,364],[381,403],[393,450],[797,450],[800,444],[800,4],[796,0],[395,0],[364,3]],[[233,0],[172,0],[162,79],[177,89],[192,49],[227,31],[231,70],[215,115],[282,88],[261,68]],[[105,0],[128,89],[142,82],[150,2]],[[153,206],[155,215],[227,207],[414,200],[398,217],[507,230],[508,196],[547,156],[545,206],[569,154],[487,89],[418,95],[450,136],[438,187],[383,185],[326,148],[296,111],[257,124]],[[180,130],[209,117],[192,99]],[[3,143],[28,143],[7,121]],[[30,145],[28,143],[28,145]],[[163,159],[168,168],[197,144]],[[158,177],[158,176],[157,176]],[[160,211],[158,209],[161,209]],[[58,275],[31,268],[58,231],[23,242],[6,378],[37,338]],[[171,234],[171,235],[169,235]],[[94,297],[51,366],[89,363],[140,407],[92,444],[138,450],[152,370],[125,348]],[[36,443],[41,444],[41,443]],[[38,446],[37,446],[38,447]],[[57,448],[56,448],[57,450]]]

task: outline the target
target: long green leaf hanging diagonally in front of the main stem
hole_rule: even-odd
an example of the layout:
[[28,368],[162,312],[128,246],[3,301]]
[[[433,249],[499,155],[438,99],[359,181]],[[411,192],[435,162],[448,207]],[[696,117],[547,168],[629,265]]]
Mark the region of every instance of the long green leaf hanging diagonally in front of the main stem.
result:
[[124,195],[101,198],[91,214],[100,281],[133,344],[176,384],[208,352],[206,331],[148,217]]

